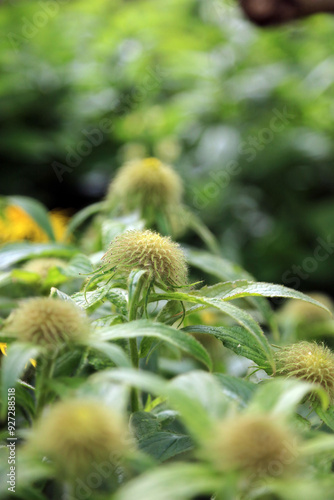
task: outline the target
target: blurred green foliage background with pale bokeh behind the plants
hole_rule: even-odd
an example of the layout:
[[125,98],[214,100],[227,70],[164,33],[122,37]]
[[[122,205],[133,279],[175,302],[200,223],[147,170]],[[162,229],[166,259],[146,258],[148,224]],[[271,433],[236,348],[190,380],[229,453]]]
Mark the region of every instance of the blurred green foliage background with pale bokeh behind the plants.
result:
[[157,156],[225,257],[333,295],[333,16],[260,29],[231,0],[11,0],[0,29],[2,194],[75,213]]

